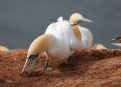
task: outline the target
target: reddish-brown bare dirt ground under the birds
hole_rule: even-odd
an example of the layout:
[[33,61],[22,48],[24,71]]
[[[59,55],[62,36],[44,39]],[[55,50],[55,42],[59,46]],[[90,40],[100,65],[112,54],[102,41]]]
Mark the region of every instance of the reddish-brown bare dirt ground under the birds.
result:
[[[0,52],[0,87],[121,87],[121,50],[75,51],[76,69],[64,63],[52,71],[34,68],[31,76],[21,75],[27,49]],[[43,55],[36,66],[44,64]]]

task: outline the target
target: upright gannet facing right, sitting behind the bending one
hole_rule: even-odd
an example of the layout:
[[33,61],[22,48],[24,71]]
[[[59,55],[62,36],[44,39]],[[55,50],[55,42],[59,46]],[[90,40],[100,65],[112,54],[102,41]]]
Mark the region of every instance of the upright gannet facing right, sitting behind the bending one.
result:
[[70,18],[69,22],[72,25],[73,32],[77,39],[80,39],[80,47],[81,48],[91,48],[93,43],[93,36],[90,30],[85,27],[81,27],[81,24],[92,23],[91,20],[84,18],[79,13],[73,13]]

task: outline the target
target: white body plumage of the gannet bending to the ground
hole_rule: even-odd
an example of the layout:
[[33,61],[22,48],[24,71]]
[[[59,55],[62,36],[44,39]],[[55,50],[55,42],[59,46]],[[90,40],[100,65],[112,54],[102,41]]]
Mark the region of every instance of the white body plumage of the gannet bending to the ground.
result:
[[47,57],[56,63],[62,63],[72,55],[76,49],[76,38],[68,21],[59,17],[58,22],[52,23],[45,31],[45,34],[52,34],[57,38],[57,44],[46,51]]

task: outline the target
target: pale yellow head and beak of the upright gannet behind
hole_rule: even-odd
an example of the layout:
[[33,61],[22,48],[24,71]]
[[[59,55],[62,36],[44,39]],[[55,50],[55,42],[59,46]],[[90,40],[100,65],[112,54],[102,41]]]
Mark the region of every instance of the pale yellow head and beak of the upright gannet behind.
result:
[[71,25],[75,24],[86,24],[86,23],[93,23],[91,20],[84,18],[81,14],[79,13],[73,13],[70,16],[69,22]]

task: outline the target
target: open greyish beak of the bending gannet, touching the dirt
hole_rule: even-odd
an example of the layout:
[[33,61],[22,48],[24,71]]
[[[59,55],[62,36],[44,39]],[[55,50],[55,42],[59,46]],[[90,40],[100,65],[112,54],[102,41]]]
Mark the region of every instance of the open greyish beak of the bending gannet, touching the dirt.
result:
[[36,61],[37,61],[37,59],[38,59],[38,55],[32,55],[32,56],[30,56],[29,58],[27,58],[27,59],[26,59],[26,62],[25,62],[25,64],[24,64],[24,67],[23,67],[23,69],[22,69],[21,74],[24,73],[24,71],[25,71],[25,69],[27,68],[28,64],[31,62],[32,64],[31,64],[31,67],[30,67],[29,73],[28,73],[28,74],[30,75],[30,74],[31,74],[31,71],[32,71],[32,69],[33,69],[33,67],[34,67],[34,65],[35,65],[35,63],[36,63]]

